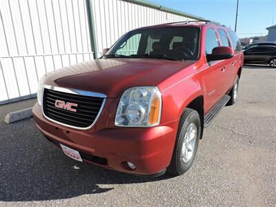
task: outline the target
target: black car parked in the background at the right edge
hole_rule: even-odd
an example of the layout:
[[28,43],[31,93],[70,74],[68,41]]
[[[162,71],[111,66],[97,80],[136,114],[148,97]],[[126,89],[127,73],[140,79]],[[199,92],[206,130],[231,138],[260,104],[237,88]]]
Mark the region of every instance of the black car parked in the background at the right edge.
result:
[[276,68],[276,46],[255,46],[244,50],[244,63],[269,64]]

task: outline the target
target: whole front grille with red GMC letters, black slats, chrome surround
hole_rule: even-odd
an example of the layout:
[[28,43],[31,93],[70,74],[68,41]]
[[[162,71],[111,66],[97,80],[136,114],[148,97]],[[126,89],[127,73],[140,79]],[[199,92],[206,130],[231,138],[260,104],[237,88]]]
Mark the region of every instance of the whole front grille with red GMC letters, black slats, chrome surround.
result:
[[[43,114],[58,124],[87,129],[97,121],[106,101],[92,92],[44,86]],[[97,93],[95,93],[97,96]]]

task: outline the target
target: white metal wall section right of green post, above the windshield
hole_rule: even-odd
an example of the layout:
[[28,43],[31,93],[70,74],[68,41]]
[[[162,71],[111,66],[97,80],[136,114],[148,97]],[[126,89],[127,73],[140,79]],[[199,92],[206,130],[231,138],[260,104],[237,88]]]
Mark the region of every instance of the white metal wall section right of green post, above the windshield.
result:
[[121,0],[92,0],[98,57],[126,32],[143,26],[193,20]]

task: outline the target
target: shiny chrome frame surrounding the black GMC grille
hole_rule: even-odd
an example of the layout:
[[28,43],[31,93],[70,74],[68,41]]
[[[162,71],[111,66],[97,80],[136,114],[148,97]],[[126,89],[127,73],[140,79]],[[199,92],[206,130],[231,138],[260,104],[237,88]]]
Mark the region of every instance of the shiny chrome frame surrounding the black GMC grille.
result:
[[[92,124],[90,126],[88,126],[88,127],[78,127],[78,126],[72,126],[72,125],[69,125],[69,124],[63,124],[62,122],[51,119],[51,118],[47,117],[44,114],[44,110],[43,110],[44,88],[47,88],[47,89],[50,89],[50,90],[56,90],[56,91],[59,91],[59,92],[68,92],[68,93],[75,94],[75,95],[83,95],[83,96],[88,96],[88,97],[103,98],[103,103],[101,103],[101,108],[99,109],[97,117],[95,118],[95,120],[92,122]],[[57,87],[57,86],[44,85],[43,86],[43,91],[42,91],[41,109],[42,109],[43,116],[46,117],[46,119],[48,119],[52,122],[55,122],[57,124],[60,124],[62,126],[66,126],[66,127],[69,127],[69,128],[75,128],[75,129],[78,129],[78,130],[88,130],[88,129],[92,128],[96,124],[97,120],[99,119],[99,116],[101,115],[101,111],[103,110],[103,106],[106,103],[106,98],[107,98],[106,95],[104,95],[102,93],[99,93],[99,92],[91,92],[91,91],[87,91],[87,90],[78,90],[78,89],[73,89],[73,88],[61,88],[61,87]]]

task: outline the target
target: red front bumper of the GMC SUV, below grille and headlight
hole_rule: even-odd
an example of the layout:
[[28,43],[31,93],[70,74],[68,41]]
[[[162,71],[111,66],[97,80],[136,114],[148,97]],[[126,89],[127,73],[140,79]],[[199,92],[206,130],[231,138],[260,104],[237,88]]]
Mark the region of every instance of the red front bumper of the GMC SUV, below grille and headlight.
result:
[[[37,128],[49,141],[78,150],[84,161],[139,175],[161,175],[170,164],[178,121],[152,128],[101,128],[98,120],[90,130],[77,130],[43,117],[38,104],[33,114]],[[88,155],[96,159],[86,159]],[[97,161],[98,158],[106,162]],[[126,161],[135,164],[136,169],[128,168]]]

